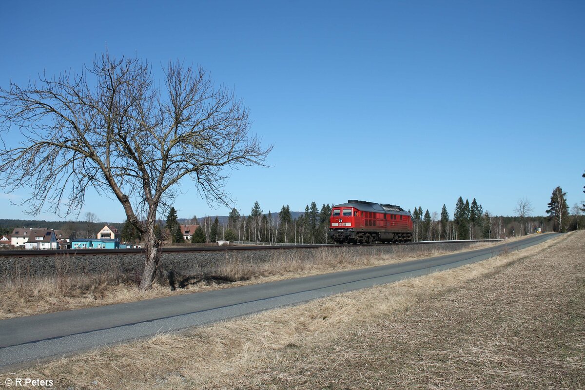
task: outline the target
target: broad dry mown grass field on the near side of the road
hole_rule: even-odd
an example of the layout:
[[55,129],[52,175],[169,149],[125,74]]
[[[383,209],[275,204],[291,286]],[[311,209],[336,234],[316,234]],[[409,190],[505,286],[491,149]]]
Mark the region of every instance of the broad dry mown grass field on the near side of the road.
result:
[[584,241],[571,233],[16,375],[71,390],[585,388]]

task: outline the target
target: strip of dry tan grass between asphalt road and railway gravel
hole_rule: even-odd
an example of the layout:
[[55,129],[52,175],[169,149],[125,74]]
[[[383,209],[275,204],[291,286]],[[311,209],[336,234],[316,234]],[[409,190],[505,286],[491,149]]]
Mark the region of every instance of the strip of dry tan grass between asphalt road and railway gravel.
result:
[[[467,250],[494,244],[472,244]],[[63,310],[133,302],[177,294],[236,287],[281,279],[298,278],[326,272],[337,272],[374,265],[392,264],[449,253],[426,250],[421,247],[414,253],[401,246],[394,253],[378,256],[356,256],[343,248],[319,249],[307,261],[295,251],[282,251],[266,264],[241,263],[233,259],[224,264],[212,278],[203,279],[186,288],[171,291],[168,285],[154,284],[151,291],[141,294],[136,281],[123,275],[69,276],[51,278],[22,278],[19,281],[0,283],[0,319],[59,312]],[[232,282],[216,282],[229,280]]]

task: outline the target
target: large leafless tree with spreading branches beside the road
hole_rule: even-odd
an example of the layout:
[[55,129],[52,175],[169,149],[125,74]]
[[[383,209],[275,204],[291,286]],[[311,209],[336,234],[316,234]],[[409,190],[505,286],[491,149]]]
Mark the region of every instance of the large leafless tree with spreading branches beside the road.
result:
[[32,214],[78,213],[90,187],[119,201],[144,239],[143,291],[159,266],[157,213],[181,180],[228,205],[223,170],[264,165],[271,150],[249,134],[243,103],[201,67],[169,63],[164,75],[159,89],[146,61],[105,53],[81,73],[0,88],[2,132],[22,134],[18,145],[2,137],[2,188],[30,188]]

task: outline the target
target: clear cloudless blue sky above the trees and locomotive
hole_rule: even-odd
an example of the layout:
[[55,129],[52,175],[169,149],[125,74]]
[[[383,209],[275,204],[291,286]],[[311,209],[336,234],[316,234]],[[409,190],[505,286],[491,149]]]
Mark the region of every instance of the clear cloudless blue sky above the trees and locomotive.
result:
[[[4,87],[107,47],[235,88],[274,144],[273,167],[231,174],[242,213],[362,199],[452,215],[463,196],[496,215],[528,198],[543,215],[559,185],[569,206],[585,199],[583,1],[3,1],[0,14]],[[180,218],[229,212],[181,190]],[[5,194],[0,210],[28,218]],[[97,195],[88,211],[125,219]]]

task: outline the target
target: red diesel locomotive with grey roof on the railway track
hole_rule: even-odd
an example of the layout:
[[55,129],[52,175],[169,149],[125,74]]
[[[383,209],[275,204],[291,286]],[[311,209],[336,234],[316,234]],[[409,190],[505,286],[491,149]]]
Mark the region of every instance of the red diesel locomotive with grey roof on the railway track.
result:
[[400,206],[347,201],[333,206],[329,238],[338,244],[412,241],[412,218]]

